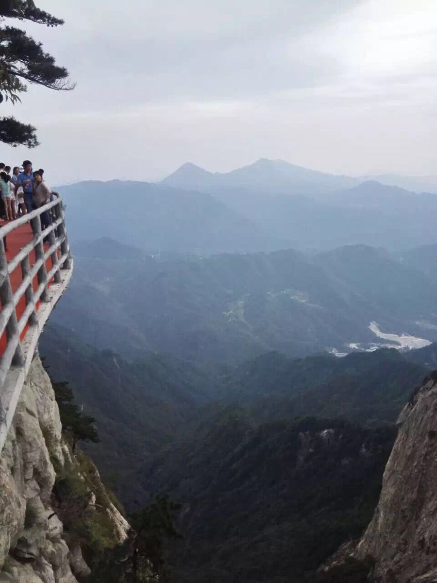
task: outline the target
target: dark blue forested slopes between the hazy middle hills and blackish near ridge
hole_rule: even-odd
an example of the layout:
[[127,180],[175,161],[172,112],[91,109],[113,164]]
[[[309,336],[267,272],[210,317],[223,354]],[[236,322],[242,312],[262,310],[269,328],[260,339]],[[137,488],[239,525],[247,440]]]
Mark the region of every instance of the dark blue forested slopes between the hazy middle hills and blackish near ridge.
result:
[[149,496],[136,468],[196,434],[199,423],[209,426],[227,406],[238,405],[254,426],[306,416],[390,425],[437,359],[432,345],[405,355],[377,350],[344,359],[269,353],[236,367],[199,367],[150,352],[128,361],[54,325],[41,336],[40,350],[52,377],[69,381],[77,403],[96,417],[101,443],[87,448],[131,507]]

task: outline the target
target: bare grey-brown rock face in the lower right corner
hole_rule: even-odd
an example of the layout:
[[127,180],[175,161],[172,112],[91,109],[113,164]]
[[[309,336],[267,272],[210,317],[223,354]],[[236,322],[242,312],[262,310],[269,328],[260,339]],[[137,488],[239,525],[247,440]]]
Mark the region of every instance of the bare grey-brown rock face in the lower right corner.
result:
[[437,581],[437,374],[399,417],[378,507],[355,556],[376,560],[375,581]]

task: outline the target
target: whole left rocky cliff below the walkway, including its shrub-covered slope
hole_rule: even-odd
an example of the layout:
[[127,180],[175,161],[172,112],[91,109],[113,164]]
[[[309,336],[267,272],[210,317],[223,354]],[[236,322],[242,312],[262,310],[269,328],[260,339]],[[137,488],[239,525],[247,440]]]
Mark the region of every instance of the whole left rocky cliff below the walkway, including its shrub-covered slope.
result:
[[36,357],[0,456],[0,583],[75,583],[89,574],[83,551],[126,538],[97,469],[72,455],[61,430]]

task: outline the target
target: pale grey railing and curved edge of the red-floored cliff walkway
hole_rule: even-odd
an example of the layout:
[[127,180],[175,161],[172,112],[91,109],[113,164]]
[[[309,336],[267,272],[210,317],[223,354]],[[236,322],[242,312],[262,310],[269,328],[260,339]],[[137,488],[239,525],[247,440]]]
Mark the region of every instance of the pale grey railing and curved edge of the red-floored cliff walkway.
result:
[[[45,212],[50,215],[51,224],[43,230],[41,215]],[[8,261],[5,241],[7,244],[8,235],[26,223],[30,223],[33,237]],[[48,241],[47,249],[44,249],[44,239]],[[30,262],[32,251],[35,253],[33,265]],[[49,271],[46,268],[48,259],[51,259],[52,265]],[[19,266],[21,282],[13,291],[10,276]],[[12,423],[38,338],[50,312],[68,285],[72,270],[65,210],[60,197],[0,228],[0,338],[3,333],[6,335],[6,348],[0,357],[0,451]],[[36,290],[33,289],[35,278],[38,284]],[[17,318],[16,307],[22,297],[25,298],[26,307]]]

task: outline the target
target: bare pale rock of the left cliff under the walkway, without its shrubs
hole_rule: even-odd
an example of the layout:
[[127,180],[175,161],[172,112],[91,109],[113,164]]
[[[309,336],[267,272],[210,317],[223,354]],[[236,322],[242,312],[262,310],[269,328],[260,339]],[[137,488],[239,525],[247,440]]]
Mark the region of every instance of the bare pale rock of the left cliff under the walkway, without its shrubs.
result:
[[[36,357],[0,456],[0,583],[75,583],[89,573],[79,543],[64,533],[62,504],[54,504],[57,473],[76,468],[61,430],[50,378]],[[96,496],[90,491],[89,498],[92,512]],[[124,540],[128,523],[112,504],[107,513],[114,538]]]

